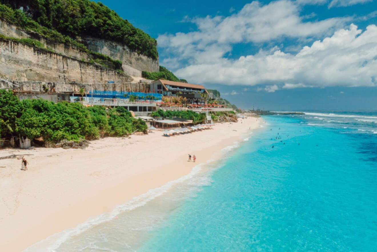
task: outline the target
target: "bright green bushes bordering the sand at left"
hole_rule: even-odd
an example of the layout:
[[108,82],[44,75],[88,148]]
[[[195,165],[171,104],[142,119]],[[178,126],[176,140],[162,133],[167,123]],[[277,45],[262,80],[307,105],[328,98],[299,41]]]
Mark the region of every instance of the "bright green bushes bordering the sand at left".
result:
[[54,103],[43,99],[20,101],[12,91],[0,90],[0,129],[2,137],[43,137],[44,141],[96,139],[100,133],[124,136],[146,132],[147,125],[134,119],[124,107],[85,107],[80,103]]

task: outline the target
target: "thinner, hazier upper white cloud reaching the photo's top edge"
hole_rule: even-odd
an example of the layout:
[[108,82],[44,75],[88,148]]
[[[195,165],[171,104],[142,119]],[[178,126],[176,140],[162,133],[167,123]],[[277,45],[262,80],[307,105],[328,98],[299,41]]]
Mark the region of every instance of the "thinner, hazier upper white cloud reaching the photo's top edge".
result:
[[228,17],[185,17],[184,21],[195,23],[198,29],[159,35],[159,49],[180,60],[178,64],[162,63],[170,68],[179,68],[187,63],[209,63],[231,53],[232,45],[237,43],[262,43],[283,37],[319,38],[342,28],[350,20],[342,17],[304,22],[305,17],[301,17],[299,11],[300,7],[288,0],[267,5],[253,1]]

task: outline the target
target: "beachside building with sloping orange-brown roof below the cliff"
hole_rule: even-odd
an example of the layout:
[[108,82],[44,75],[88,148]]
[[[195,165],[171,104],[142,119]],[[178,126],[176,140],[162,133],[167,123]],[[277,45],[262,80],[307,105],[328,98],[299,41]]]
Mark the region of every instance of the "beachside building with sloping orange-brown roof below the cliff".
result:
[[207,94],[207,90],[202,85],[176,82],[171,80],[155,80],[150,83],[150,91],[163,96],[182,96],[187,99],[202,99],[201,94]]

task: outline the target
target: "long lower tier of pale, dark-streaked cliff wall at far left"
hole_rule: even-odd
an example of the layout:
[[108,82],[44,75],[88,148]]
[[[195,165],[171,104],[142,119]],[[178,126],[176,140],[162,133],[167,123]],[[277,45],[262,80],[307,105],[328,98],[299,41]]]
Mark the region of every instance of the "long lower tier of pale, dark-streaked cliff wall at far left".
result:
[[34,46],[0,39],[0,77],[44,82],[130,82],[118,71],[66,57]]

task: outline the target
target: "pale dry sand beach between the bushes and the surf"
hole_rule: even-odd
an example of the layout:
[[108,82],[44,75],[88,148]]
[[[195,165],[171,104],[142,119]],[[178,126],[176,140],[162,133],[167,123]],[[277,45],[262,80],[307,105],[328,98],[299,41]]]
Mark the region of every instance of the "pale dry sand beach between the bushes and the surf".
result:
[[[242,123],[241,123],[242,121]],[[222,148],[262,124],[261,117],[216,124],[213,130],[162,137],[161,131],[91,141],[85,150],[4,150],[28,156],[28,171],[17,159],[2,160],[0,244],[21,251],[45,238],[112,212],[150,189],[188,175],[194,166],[218,159]],[[251,136],[252,137],[252,136]],[[157,146],[157,147],[156,147]],[[4,155],[3,155],[4,153]],[[197,162],[187,162],[187,154]],[[171,156],[174,159],[169,159]],[[37,167],[36,167],[37,166]]]

